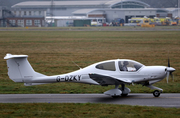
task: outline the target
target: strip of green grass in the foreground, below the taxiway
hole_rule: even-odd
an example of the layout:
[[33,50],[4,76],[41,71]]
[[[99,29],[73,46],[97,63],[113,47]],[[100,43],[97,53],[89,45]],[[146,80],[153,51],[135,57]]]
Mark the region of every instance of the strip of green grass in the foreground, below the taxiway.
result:
[[112,104],[26,103],[0,104],[0,117],[51,118],[178,118],[177,108],[142,107]]

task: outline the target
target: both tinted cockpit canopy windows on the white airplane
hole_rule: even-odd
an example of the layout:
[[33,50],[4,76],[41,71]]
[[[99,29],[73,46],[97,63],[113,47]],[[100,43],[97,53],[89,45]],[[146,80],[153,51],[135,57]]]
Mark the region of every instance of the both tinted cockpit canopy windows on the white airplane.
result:
[[[143,64],[133,61],[133,60],[118,60],[118,67],[122,72],[137,72]],[[104,63],[100,63],[96,65],[97,69],[108,70],[108,71],[116,71],[115,61],[108,61]]]

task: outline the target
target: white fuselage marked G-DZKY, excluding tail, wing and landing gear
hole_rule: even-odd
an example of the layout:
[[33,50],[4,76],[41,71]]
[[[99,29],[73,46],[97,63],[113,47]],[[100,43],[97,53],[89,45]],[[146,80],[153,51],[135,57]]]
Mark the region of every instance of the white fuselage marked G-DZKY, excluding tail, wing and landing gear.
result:
[[[126,64],[128,63],[128,64]],[[125,70],[123,67],[126,64]],[[124,67],[125,68],[125,67]],[[83,69],[62,75],[47,76],[46,78],[36,78],[29,81],[30,83],[54,83],[54,82],[78,82],[87,84],[96,84],[98,82],[92,80],[89,74],[102,74],[117,78],[119,80],[127,80],[129,83],[139,82],[157,82],[164,79],[167,75],[165,66],[145,66],[139,62],[128,59],[108,60],[92,64]],[[106,83],[111,85],[112,83]]]

